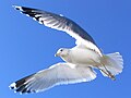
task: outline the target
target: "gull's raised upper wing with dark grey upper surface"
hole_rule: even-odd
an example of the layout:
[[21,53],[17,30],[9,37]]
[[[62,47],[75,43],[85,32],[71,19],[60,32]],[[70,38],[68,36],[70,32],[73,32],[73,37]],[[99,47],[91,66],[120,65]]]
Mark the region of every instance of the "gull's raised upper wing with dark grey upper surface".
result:
[[94,39],[73,21],[47,11],[16,5],[14,5],[14,8],[16,10],[20,10],[22,13],[38,21],[40,24],[44,24],[47,27],[51,27],[68,33],[69,35],[76,39],[78,46],[84,45],[86,48],[90,48],[102,56],[102,52],[96,46]]

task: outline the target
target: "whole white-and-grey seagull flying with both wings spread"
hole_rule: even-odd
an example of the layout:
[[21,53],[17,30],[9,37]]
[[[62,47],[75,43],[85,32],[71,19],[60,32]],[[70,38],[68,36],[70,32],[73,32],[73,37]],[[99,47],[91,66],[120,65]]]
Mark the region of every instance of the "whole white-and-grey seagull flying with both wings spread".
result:
[[64,62],[56,63],[12,83],[11,89],[21,94],[39,93],[56,85],[93,81],[96,78],[94,69],[98,69],[104,76],[112,81],[115,75],[122,72],[122,56],[119,52],[104,54],[87,32],[72,20],[38,9],[13,7],[47,27],[69,34],[75,38],[76,46],[71,49],[60,48],[55,56]]

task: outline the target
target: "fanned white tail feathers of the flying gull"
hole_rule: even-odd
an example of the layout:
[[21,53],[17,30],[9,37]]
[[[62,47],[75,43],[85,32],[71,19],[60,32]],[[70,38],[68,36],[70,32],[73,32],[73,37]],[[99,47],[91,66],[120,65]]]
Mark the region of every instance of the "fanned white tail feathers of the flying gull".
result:
[[[102,63],[112,75],[117,75],[122,72],[123,59],[119,52],[105,54],[102,59]],[[100,68],[100,69],[106,70],[104,68]],[[100,72],[104,76],[107,76],[107,74],[105,74],[103,71],[100,71]],[[105,72],[107,72],[107,71],[105,71]]]

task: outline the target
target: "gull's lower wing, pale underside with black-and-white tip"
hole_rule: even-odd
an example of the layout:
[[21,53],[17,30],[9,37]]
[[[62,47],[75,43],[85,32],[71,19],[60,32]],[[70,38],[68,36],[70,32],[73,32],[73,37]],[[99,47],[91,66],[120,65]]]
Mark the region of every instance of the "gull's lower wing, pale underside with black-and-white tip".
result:
[[49,69],[26,76],[10,85],[20,93],[38,93],[59,84],[88,82],[96,77],[91,68],[75,68],[71,63],[57,63]]

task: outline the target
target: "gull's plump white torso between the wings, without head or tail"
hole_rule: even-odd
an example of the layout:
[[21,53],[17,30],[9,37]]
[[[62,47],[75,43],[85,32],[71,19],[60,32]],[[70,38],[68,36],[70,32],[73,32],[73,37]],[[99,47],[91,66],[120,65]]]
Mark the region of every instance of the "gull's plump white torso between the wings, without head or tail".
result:
[[[97,52],[94,52],[93,50],[85,49],[85,48],[79,48],[74,47],[70,49],[70,53],[67,57],[63,57],[62,59],[70,63],[75,64],[86,64],[86,65],[99,65],[100,63],[100,56]],[[96,65],[96,66],[97,66]]]

